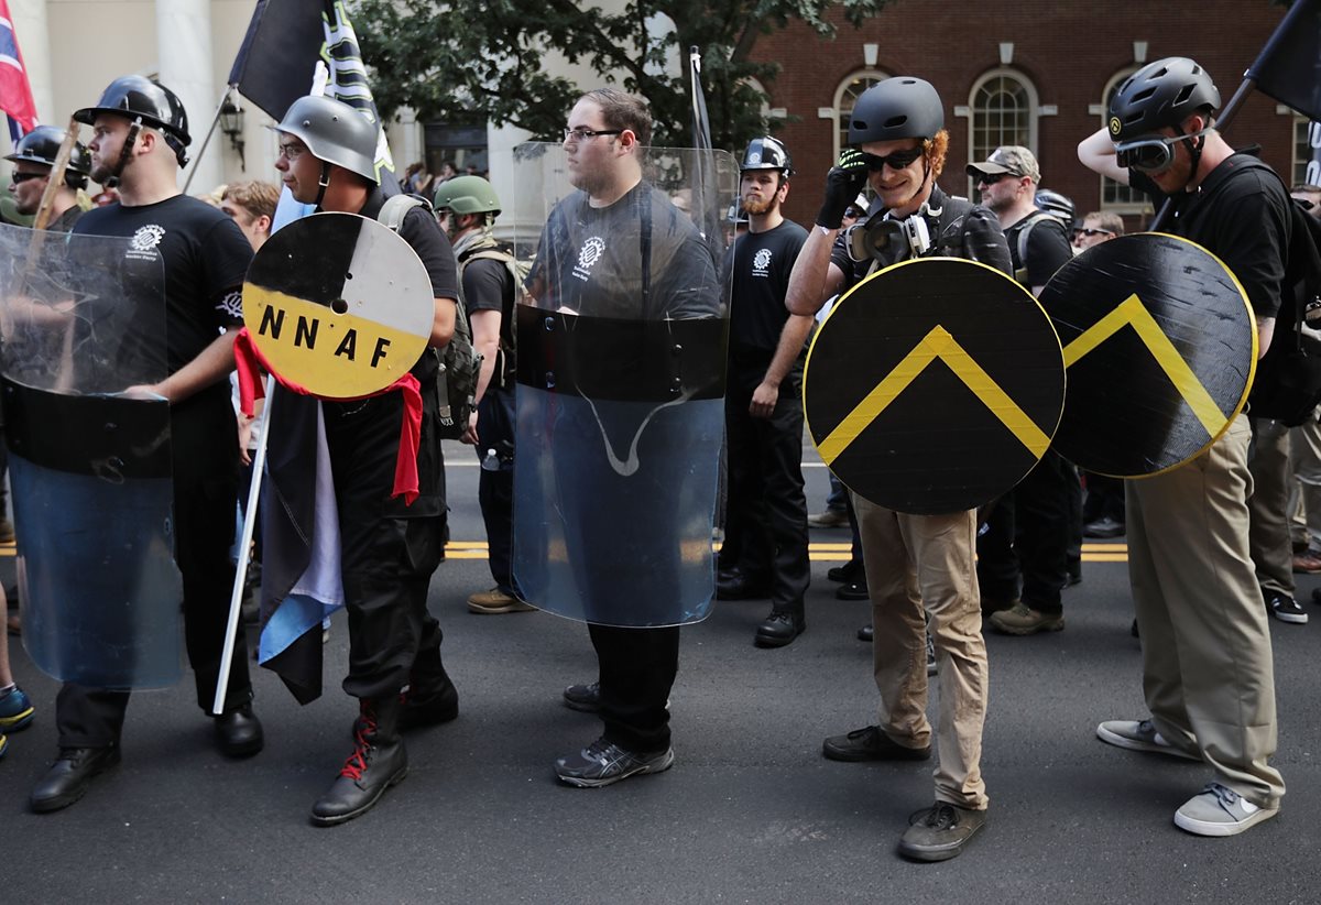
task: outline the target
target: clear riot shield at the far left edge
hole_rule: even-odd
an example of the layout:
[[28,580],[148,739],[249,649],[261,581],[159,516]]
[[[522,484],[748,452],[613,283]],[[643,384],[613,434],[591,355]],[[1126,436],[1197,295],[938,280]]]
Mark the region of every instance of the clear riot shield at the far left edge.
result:
[[[164,271],[135,239],[0,226],[0,386],[22,641],[98,688],[182,674]],[[137,395],[137,394],[133,394]]]

